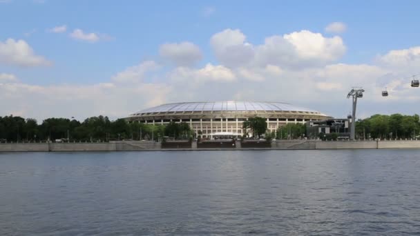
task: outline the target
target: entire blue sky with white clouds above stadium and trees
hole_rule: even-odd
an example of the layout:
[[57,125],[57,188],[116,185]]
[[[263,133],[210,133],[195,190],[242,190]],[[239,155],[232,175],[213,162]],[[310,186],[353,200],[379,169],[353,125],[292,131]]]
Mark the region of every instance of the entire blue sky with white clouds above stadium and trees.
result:
[[[420,1],[0,0],[0,116],[127,117],[180,101],[419,113]],[[389,97],[381,97],[387,89]]]

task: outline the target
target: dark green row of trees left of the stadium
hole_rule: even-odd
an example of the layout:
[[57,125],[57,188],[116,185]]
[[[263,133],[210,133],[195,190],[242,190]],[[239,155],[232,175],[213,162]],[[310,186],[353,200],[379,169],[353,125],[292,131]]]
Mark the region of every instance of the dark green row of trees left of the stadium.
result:
[[188,124],[171,122],[166,126],[133,122],[124,119],[111,121],[108,117],[89,117],[80,122],[76,119],[48,118],[41,124],[36,119],[24,119],[12,115],[0,117],[0,141],[35,142],[64,141],[112,141],[122,139],[155,140],[167,136],[187,139],[193,133]]

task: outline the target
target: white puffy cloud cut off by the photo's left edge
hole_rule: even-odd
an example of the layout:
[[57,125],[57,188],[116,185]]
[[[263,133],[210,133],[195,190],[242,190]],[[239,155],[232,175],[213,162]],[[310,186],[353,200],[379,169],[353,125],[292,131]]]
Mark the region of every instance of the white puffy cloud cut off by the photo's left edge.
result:
[[17,66],[50,66],[52,63],[35,52],[24,40],[0,41],[0,63]]

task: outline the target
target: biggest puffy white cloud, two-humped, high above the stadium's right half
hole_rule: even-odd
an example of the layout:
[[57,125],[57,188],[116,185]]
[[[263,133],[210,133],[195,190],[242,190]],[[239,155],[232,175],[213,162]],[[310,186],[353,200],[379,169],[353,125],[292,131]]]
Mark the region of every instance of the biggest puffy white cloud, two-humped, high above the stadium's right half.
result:
[[336,61],[346,50],[341,37],[323,37],[309,30],[267,37],[263,44],[254,46],[240,30],[227,29],[213,35],[210,43],[220,63],[229,67],[322,66]]

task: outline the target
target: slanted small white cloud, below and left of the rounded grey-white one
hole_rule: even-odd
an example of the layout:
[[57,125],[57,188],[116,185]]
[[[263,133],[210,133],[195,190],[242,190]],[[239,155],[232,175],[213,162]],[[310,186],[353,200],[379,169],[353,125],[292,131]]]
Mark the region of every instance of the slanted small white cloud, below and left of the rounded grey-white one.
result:
[[138,83],[143,81],[148,72],[158,70],[160,66],[155,61],[143,61],[137,66],[131,66],[118,72],[111,79],[120,83]]

